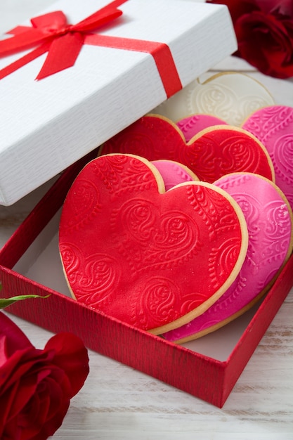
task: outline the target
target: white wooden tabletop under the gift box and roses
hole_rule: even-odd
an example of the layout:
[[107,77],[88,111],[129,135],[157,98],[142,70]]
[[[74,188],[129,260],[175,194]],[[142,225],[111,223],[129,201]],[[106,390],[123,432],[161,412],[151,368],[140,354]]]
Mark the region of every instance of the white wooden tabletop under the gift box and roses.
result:
[[[0,32],[37,15],[52,0],[1,0]],[[217,70],[244,70],[293,106],[293,82],[254,72],[228,58]],[[1,105],[1,101],[0,101]],[[1,141],[1,140],[0,140]],[[0,207],[0,247],[49,184],[11,207]],[[86,383],[72,399],[56,440],[293,440],[293,290],[271,323],[222,409],[121,363],[89,352]],[[51,333],[11,316],[43,348]]]

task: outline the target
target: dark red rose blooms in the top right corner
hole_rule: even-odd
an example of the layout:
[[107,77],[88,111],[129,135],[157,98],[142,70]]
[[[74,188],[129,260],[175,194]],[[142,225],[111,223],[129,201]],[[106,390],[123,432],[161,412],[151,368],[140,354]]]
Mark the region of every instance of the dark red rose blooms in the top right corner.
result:
[[265,75],[293,77],[292,1],[211,0],[228,6],[238,42],[237,56]]

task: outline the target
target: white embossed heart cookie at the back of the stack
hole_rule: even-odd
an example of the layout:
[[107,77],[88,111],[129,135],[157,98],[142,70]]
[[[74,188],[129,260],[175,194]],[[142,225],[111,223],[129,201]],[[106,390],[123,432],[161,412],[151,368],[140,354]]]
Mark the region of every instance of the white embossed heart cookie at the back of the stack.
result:
[[195,79],[152,113],[174,122],[205,113],[239,127],[252,112],[274,103],[271,94],[256,79],[240,72],[221,72],[203,83]]

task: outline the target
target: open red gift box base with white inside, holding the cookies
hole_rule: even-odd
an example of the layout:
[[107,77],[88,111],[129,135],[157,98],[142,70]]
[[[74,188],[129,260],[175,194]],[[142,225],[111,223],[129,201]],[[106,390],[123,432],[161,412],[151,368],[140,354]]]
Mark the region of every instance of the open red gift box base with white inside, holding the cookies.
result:
[[222,407],[293,285],[293,257],[262,301],[225,327],[179,346],[76,302],[58,253],[60,210],[74,177],[96,153],[67,169],[0,252],[0,295],[48,295],[9,308],[52,332],[79,335],[90,349]]

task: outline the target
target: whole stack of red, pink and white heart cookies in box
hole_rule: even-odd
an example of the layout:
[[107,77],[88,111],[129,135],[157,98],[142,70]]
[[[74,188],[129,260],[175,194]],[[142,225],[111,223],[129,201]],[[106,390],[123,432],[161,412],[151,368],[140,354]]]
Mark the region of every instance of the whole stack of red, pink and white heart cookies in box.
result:
[[74,298],[177,343],[247,311],[293,248],[293,108],[246,75],[188,88],[102,146],[59,234]]

